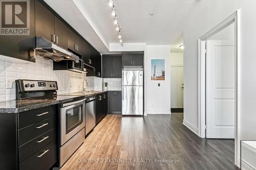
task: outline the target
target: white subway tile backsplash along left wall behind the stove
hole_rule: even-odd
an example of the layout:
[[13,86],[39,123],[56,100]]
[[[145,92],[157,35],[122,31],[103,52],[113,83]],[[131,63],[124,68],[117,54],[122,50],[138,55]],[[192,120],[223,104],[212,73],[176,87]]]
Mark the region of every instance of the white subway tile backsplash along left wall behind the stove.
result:
[[6,79],[52,80],[57,81],[58,94],[79,92],[82,89],[83,80],[88,81],[86,90],[102,90],[101,78],[86,77],[68,70],[53,70],[53,61],[36,57],[35,63],[11,63],[0,61],[0,101],[14,100],[15,83],[13,88],[6,89]]

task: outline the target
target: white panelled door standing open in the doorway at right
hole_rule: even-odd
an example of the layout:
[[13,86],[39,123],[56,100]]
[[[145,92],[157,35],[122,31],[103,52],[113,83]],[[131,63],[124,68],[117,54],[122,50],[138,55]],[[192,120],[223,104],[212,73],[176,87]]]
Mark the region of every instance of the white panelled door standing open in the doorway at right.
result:
[[234,138],[234,42],[208,40],[206,55],[206,138]]

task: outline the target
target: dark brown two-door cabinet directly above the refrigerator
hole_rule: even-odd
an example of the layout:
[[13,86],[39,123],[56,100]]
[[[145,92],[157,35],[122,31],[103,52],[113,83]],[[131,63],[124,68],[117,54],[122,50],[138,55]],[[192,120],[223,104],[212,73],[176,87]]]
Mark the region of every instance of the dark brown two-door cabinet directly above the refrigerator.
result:
[[143,53],[124,53],[122,54],[122,66],[143,66]]

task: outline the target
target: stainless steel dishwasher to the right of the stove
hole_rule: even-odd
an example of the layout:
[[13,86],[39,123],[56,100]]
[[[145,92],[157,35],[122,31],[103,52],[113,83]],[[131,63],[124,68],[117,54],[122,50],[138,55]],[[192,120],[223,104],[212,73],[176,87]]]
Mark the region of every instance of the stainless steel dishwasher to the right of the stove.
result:
[[86,135],[96,124],[96,96],[86,99]]

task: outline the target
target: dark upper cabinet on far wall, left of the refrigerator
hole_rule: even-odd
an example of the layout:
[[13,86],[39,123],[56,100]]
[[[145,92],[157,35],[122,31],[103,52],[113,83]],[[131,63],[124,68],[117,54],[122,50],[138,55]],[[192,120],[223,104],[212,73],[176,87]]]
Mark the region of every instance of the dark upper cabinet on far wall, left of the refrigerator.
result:
[[103,78],[122,78],[122,59],[119,55],[102,56]]

